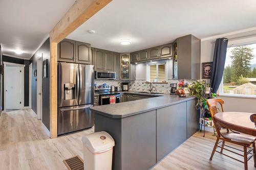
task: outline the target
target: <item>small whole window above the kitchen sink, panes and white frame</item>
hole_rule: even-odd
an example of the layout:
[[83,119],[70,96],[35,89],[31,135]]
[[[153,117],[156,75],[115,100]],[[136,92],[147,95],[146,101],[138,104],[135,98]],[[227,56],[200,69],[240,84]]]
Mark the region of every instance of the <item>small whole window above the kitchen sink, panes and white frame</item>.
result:
[[167,61],[157,61],[147,63],[148,82],[167,82]]

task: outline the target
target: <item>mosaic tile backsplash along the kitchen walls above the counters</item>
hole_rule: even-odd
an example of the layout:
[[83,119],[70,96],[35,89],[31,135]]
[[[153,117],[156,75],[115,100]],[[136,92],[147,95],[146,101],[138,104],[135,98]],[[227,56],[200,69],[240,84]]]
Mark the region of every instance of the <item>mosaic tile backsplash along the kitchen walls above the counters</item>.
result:
[[[188,82],[188,84],[191,84],[194,82],[194,80],[185,80]],[[153,92],[161,92],[161,93],[170,93],[170,83],[178,83],[179,80],[169,80],[166,84],[153,84]],[[120,81],[115,80],[95,80],[95,83],[98,85],[101,85],[103,83],[114,85],[114,86],[121,86]],[[148,88],[150,88],[150,83],[146,83],[145,81],[136,80],[131,81],[129,83],[129,90],[131,91],[148,91]]]

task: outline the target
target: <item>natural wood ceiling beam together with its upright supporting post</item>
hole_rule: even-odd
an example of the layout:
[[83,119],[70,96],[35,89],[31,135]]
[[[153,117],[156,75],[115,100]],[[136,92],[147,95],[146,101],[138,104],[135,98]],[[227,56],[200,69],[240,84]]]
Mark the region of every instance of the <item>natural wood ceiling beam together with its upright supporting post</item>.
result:
[[57,44],[112,0],[77,0],[50,32],[50,137],[57,137]]

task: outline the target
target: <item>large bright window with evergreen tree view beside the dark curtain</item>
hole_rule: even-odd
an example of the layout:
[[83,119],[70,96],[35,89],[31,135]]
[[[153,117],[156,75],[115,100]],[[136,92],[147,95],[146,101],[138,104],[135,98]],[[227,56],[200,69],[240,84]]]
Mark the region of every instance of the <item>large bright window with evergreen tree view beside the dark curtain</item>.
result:
[[256,97],[256,43],[227,48],[221,94]]

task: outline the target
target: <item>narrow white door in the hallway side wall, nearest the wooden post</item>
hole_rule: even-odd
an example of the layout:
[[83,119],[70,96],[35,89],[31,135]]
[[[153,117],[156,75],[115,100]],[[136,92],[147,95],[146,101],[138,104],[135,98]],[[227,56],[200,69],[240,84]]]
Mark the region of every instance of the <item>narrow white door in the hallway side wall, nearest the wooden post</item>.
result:
[[36,115],[42,119],[42,56],[36,62]]

